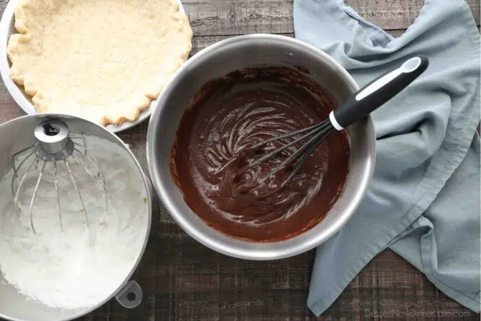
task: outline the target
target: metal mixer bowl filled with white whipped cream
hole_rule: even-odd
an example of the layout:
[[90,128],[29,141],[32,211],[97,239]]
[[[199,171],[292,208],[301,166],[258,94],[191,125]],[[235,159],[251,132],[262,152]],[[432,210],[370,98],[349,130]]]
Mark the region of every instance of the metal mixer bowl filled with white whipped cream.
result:
[[[89,181],[98,174],[82,162],[71,161],[66,168],[58,160],[43,168],[42,155],[35,159],[34,130],[50,120],[67,126],[77,158],[86,147],[85,163],[95,159],[105,193],[96,180]],[[57,133],[45,129],[45,135]],[[111,298],[137,307],[142,289],[131,276],[146,247],[151,210],[150,183],[141,166],[107,129],[58,114],[1,124],[0,318],[73,320]]]

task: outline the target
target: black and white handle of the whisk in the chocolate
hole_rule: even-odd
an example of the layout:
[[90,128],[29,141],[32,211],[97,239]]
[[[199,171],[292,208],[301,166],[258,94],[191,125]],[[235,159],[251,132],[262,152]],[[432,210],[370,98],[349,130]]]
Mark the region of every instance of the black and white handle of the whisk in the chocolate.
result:
[[423,74],[428,65],[425,56],[414,56],[400,67],[372,80],[331,112],[329,118],[333,126],[340,131],[381,107]]

